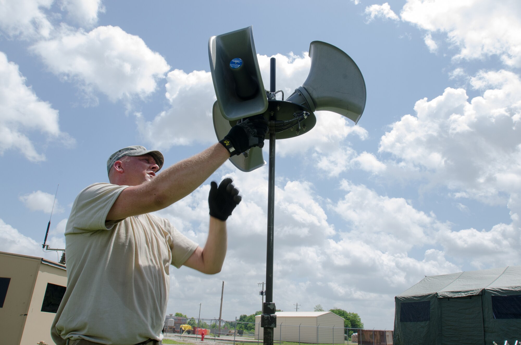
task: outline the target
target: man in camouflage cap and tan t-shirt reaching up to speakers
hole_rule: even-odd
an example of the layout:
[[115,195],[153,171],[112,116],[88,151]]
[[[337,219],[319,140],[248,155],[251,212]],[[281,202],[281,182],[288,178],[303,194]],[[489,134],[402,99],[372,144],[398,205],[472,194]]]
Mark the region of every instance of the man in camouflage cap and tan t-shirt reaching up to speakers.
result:
[[129,146],[109,157],[110,183],[81,191],[67,221],[67,290],[51,327],[57,345],[161,343],[169,265],[220,272],[226,219],[241,197],[231,179],[219,187],[211,183],[204,248],[150,213],[190,194],[230,155],[262,147],[267,130],[262,115],[246,119],[219,143],[159,175],[159,151]]

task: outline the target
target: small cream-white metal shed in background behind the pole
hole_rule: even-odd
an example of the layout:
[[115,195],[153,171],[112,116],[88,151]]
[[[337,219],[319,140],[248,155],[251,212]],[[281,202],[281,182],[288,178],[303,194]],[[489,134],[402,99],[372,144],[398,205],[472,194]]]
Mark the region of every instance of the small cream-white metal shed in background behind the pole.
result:
[[[344,343],[344,319],[331,312],[277,312],[274,341]],[[264,339],[261,315],[255,316],[255,334]]]

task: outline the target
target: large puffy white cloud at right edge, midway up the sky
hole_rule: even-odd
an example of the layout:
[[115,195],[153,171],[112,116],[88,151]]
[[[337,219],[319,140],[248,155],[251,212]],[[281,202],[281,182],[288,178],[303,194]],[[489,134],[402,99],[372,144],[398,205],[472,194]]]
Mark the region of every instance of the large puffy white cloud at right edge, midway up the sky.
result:
[[486,203],[505,203],[521,187],[521,80],[508,71],[470,79],[482,96],[447,88],[415,104],[380,140],[405,170],[420,169],[432,183]]

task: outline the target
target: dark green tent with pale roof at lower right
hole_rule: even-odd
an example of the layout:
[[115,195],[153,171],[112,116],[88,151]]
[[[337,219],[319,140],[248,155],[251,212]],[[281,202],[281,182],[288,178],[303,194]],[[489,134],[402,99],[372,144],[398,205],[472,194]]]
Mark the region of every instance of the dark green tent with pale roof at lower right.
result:
[[521,266],[425,277],[394,300],[394,345],[521,341]]

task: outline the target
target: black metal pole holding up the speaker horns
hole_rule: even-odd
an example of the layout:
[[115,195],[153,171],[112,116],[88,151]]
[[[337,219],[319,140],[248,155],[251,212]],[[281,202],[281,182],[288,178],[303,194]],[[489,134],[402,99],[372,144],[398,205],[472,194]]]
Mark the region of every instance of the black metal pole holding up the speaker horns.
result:
[[[275,92],[275,58],[270,59],[270,92]],[[270,112],[270,120],[275,113]],[[273,328],[277,326],[273,303],[273,242],[275,221],[275,132],[269,133],[268,159],[268,239],[266,246],[266,302],[263,304],[264,344],[273,345]]]

